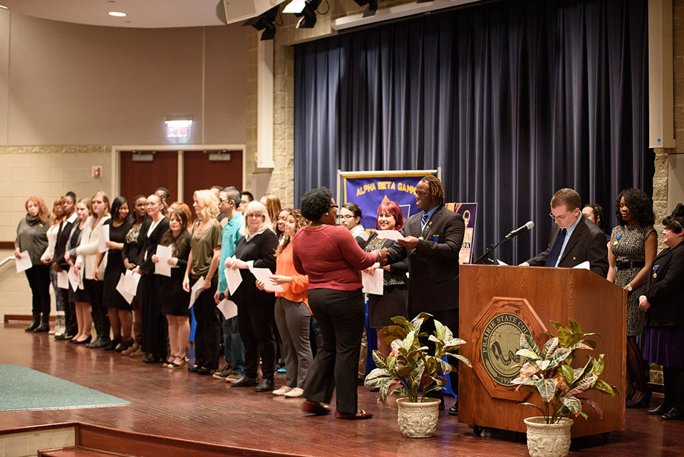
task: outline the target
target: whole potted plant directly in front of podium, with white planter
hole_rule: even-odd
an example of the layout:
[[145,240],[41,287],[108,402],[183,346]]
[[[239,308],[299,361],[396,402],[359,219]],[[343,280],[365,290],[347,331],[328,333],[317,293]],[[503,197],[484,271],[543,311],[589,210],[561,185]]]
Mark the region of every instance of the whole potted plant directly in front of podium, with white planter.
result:
[[567,416],[582,416],[582,403],[594,407],[598,415],[603,417],[601,407],[595,401],[579,396],[590,390],[601,391],[604,394],[616,396],[618,389],[611,386],[598,376],[603,372],[603,354],[594,359],[587,356],[584,366],[573,368],[571,363],[575,351],[579,349],[594,349],[596,343],[585,339],[594,335],[584,333],[580,325],[569,319],[569,327],[551,321],[556,328],[556,336],[546,332],[549,341],[542,349],[534,339],[527,334],[520,336],[520,348],[517,355],[526,361],[520,367],[519,376],[512,381],[518,384],[517,389],[524,389],[538,394],[543,407],[529,402],[522,403],[538,409],[541,416],[525,419],[527,424],[527,449],[532,457],[567,456],[570,448],[570,427],[573,419]]

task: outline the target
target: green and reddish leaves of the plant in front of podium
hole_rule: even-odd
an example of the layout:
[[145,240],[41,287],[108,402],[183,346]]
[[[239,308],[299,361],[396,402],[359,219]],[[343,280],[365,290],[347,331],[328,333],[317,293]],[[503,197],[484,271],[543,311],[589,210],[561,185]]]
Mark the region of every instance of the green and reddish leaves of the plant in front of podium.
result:
[[589,390],[601,391],[611,396],[618,394],[616,386],[598,379],[603,372],[603,354],[598,359],[587,356],[586,364],[580,368],[570,365],[575,351],[592,350],[596,347],[595,342],[585,339],[594,333],[583,333],[580,325],[573,319],[569,319],[569,327],[554,321],[551,324],[556,327],[556,336],[546,332],[551,338],[542,349],[539,349],[529,335],[520,335],[521,349],[516,354],[524,356],[526,362],[520,366],[519,377],[512,383],[518,384],[516,390],[522,388],[539,394],[544,408],[528,402],[522,405],[539,409],[546,423],[557,423],[561,417],[569,414],[587,419],[586,413],[582,411],[583,401],[593,406],[598,415],[603,417],[601,406],[595,401],[579,397],[579,394]]

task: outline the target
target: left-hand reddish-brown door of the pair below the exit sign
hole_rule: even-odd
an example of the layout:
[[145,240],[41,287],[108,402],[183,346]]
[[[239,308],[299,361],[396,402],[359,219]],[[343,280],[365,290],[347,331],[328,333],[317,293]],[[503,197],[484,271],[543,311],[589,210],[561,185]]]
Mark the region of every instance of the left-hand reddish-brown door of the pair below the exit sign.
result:
[[136,195],[150,195],[167,188],[171,201],[178,194],[178,152],[157,151],[151,162],[133,161],[133,151],[121,151],[121,195],[132,202]]

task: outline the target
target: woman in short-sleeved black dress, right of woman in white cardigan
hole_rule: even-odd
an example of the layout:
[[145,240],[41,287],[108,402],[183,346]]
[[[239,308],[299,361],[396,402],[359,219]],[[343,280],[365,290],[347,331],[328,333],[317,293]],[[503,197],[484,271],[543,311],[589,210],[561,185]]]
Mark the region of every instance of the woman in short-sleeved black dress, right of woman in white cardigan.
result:
[[112,328],[112,341],[105,346],[105,351],[121,352],[133,346],[131,329],[133,327],[133,307],[126,302],[116,290],[121,274],[125,272],[121,251],[126,234],[133,227],[134,220],[128,217],[128,201],[125,197],[116,197],[112,202],[112,218],[105,222],[109,226],[109,241],[105,243],[107,252],[98,253],[95,265],[100,266],[103,257],[107,256],[105,267],[103,303],[107,307],[109,323]]

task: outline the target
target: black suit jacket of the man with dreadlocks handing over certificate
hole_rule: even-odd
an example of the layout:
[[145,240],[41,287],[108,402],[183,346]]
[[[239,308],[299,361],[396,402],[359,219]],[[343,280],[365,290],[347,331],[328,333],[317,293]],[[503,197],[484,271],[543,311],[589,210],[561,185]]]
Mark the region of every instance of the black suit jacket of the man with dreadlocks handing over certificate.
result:
[[440,206],[420,230],[422,212],[406,220],[402,233],[418,237],[418,247],[389,247],[388,263],[408,258],[408,312],[437,312],[458,308],[458,253],[465,223],[456,212]]

